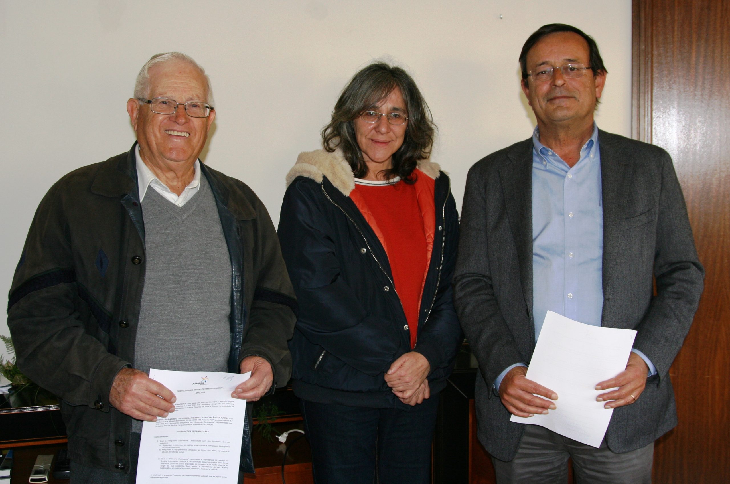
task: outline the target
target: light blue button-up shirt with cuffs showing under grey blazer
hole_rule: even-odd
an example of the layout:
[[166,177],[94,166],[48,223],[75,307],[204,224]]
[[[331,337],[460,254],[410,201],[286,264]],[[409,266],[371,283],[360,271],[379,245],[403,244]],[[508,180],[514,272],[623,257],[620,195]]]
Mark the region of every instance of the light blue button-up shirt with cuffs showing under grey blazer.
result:
[[[603,312],[603,203],[598,127],[571,168],[532,134],[532,312],[535,341],[548,311],[601,326]],[[639,350],[649,367],[656,368]],[[515,366],[494,382],[499,388]],[[596,382],[597,383],[597,382]]]

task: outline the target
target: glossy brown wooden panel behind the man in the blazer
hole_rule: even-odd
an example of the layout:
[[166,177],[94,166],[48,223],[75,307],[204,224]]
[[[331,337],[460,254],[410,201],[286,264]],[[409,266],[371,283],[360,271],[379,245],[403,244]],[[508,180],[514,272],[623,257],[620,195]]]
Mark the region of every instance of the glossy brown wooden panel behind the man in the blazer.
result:
[[679,425],[655,483],[730,480],[730,1],[634,0],[633,135],[672,155],[707,272],[669,372]]

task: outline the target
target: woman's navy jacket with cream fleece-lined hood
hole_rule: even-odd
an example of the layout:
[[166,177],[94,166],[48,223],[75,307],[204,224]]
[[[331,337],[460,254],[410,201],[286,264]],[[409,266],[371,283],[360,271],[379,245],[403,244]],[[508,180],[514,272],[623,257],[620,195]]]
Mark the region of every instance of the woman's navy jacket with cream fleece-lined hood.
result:
[[[429,161],[418,168],[435,178],[434,246],[414,349],[431,364],[433,397],[463,339],[451,289],[458,213],[447,175]],[[299,303],[289,342],[294,392],[312,402],[410,408],[384,379],[410,351],[410,332],[383,245],[345,195],[354,188],[350,166],[337,152],[301,153],[287,181],[278,234]]]

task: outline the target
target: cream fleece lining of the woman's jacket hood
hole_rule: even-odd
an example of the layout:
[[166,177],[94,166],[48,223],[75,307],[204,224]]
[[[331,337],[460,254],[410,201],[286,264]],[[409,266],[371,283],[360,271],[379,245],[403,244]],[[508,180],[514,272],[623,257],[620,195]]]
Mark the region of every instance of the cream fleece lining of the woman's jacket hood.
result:
[[[417,168],[434,180],[439,177],[441,170],[438,164],[428,159],[419,161]],[[286,174],[286,186],[289,186],[296,177],[307,177],[322,183],[322,175],[345,196],[350,196],[350,192],[355,189],[355,175],[340,150],[334,153],[325,150],[299,153],[296,164]]]

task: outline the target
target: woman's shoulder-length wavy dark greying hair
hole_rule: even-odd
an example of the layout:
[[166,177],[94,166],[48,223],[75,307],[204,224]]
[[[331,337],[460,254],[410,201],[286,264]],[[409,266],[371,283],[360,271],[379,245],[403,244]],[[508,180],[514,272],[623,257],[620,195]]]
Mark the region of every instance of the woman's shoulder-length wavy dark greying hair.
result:
[[[408,122],[403,145],[393,153],[393,167],[385,170],[386,179],[399,176],[414,183],[411,174],[419,160],[429,158],[434,145],[434,125],[429,105],[418,91],[415,81],[400,67],[376,62],[361,69],[342,90],[332,111],[332,120],[322,129],[322,144],[328,152],[339,148],[353,169],[363,178],[368,172],[358,146],[354,121],[399,88],[406,104]],[[385,113],[387,114],[387,113]]]

